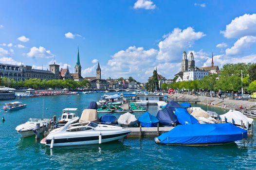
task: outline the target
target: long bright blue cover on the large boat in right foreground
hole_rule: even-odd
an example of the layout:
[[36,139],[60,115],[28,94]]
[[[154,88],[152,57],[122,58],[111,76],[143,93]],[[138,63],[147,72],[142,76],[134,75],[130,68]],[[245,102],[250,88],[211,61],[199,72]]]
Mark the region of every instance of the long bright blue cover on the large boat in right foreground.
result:
[[163,144],[210,144],[247,138],[247,130],[230,123],[178,125],[157,137]]

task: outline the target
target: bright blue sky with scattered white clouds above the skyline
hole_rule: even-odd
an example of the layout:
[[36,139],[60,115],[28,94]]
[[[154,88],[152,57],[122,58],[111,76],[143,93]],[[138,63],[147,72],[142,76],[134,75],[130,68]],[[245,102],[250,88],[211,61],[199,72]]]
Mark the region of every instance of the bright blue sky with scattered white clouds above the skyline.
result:
[[146,82],[196,67],[256,61],[256,0],[1,0],[0,63]]

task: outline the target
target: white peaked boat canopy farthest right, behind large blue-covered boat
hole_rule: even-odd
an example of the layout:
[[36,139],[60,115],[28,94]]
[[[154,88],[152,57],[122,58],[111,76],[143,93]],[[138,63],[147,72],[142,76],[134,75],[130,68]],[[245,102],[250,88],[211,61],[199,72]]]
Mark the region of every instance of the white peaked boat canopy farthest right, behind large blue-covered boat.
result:
[[232,119],[234,119],[235,124],[237,125],[241,125],[241,120],[244,122],[244,124],[246,124],[247,121],[249,122],[249,124],[252,124],[254,121],[254,119],[246,117],[237,110],[229,110],[224,115],[219,115],[219,117],[220,119],[222,119],[222,121],[224,121],[226,117],[227,121],[230,123],[232,123]]

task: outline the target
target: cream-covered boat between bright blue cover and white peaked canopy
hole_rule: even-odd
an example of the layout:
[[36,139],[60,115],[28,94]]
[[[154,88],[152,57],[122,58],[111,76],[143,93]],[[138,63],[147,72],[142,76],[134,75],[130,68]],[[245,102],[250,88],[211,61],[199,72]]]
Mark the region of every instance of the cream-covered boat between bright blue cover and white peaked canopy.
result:
[[194,110],[191,115],[195,117],[200,124],[214,124],[217,120],[210,117],[210,115],[204,110]]

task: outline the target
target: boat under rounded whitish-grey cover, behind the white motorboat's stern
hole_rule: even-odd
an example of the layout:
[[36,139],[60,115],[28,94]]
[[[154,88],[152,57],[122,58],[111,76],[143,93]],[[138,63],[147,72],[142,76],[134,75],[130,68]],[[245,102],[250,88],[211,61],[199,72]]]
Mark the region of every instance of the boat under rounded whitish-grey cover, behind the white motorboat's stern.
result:
[[117,122],[122,126],[133,127],[137,124],[138,119],[135,117],[135,115],[132,115],[131,113],[127,112],[121,115]]

